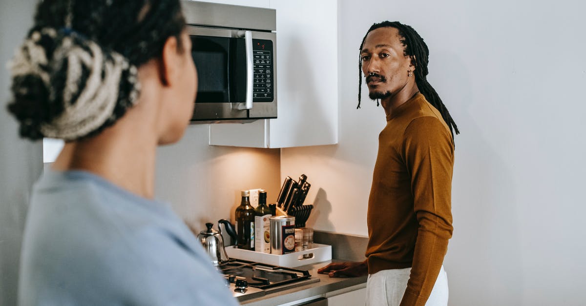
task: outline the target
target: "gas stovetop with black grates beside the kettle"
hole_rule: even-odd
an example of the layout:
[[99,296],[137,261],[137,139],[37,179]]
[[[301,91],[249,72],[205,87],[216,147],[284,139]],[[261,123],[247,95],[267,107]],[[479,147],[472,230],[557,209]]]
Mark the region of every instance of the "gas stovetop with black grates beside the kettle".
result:
[[234,297],[240,301],[319,281],[319,278],[312,278],[307,270],[239,259],[231,259],[218,269],[233,289]]

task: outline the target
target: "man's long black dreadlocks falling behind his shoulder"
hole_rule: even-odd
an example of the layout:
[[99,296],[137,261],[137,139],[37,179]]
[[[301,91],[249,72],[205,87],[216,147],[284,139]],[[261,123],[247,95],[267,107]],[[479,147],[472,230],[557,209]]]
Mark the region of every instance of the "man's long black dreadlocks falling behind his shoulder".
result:
[[[429,60],[430,50],[427,48],[423,38],[421,38],[421,36],[419,36],[419,34],[415,32],[411,26],[403,25],[403,23],[397,21],[383,21],[380,23],[374,23],[368,32],[366,32],[366,35],[364,35],[362,43],[360,43],[360,50],[362,50],[362,47],[364,46],[364,41],[366,40],[368,33],[370,33],[372,30],[383,27],[390,27],[398,30],[399,35],[402,38],[401,43],[403,43],[403,46],[405,46],[405,50],[403,51],[404,56],[409,56],[413,59],[415,66],[415,83],[417,84],[419,91],[432,106],[440,111],[440,114],[442,118],[444,118],[445,123],[448,124],[449,130],[452,133],[452,138],[454,137],[454,131],[456,134],[460,134],[458,126],[454,122],[454,119],[452,119],[452,116],[449,114],[448,108],[445,107],[434,87],[431,87],[431,84],[427,81],[427,63]],[[358,59],[358,81],[358,106],[356,108],[360,108],[360,98],[362,94],[362,59],[360,56]]]

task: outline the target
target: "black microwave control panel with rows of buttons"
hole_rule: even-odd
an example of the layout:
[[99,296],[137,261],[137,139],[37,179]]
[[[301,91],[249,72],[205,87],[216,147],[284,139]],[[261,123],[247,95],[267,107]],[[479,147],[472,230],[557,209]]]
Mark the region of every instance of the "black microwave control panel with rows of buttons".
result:
[[272,41],[253,39],[253,102],[272,102],[275,93]]

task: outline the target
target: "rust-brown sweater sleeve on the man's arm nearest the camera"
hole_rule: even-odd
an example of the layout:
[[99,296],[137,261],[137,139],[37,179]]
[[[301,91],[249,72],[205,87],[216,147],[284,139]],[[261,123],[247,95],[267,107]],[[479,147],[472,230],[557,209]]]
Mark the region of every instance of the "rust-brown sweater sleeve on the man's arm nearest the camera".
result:
[[419,228],[401,305],[425,305],[452,237],[454,142],[439,118],[420,117],[407,126],[403,150]]

